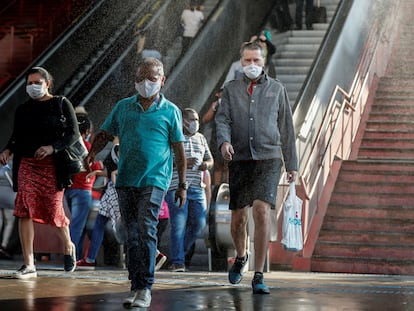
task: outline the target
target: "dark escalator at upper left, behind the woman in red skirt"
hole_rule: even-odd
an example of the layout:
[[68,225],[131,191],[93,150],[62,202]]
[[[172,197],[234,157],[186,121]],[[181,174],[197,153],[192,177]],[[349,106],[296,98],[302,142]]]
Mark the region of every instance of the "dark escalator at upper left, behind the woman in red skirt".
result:
[[[88,11],[62,33],[31,65],[44,66],[54,76],[53,94],[64,94],[78,105],[90,93],[97,80],[113,69],[125,49],[134,40],[133,33],[138,22],[141,27],[155,16],[162,5],[174,1],[146,0],[96,1]],[[168,7],[178,16],[181,5]],[[172,18],[171,23],[175,23]],[[164,38],[166,44],[173,38]],[[130,60],[133,64],[133,60]],[[129,67],[129,66],[128,66]],[[132,67],[132,65],[130,66]],[[130,68],[126,68],[130,72]],[[27,99],[24,91],[24,73],[0,95],[0,145],[4,146],[11,134],[15,108]],[[116,92],[117,98],[125,96],[127,87]],[[97,108],[100,110],[100,108]]]

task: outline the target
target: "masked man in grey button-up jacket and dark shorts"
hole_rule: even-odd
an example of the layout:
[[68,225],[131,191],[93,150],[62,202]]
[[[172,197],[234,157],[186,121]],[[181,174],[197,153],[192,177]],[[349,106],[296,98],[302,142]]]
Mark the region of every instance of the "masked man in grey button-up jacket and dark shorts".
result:
[[237,257],[229,281],[238,284],[247,264],[248,208],[254,220],[254,294],[269,294],[263,269],[270,234],[270,210],[275,208],[283,166],[294,182],[297,154],[292,112],[285,87],[263,71],[262,48],[254,42],[241,48],[242,79],[223,89],[215,122],[217,145],[229,161],[231,235]]

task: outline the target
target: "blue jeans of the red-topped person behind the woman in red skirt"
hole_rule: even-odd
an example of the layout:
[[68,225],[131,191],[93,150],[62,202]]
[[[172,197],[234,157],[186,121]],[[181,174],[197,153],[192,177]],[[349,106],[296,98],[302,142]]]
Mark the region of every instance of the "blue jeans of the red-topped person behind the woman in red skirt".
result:
[[92,203],[92,192],[81,189],[66,189],[65,199],[68,203],[72,220],[69,225],[70,237],[76,247],[76,258],[82,258],[83,233]]

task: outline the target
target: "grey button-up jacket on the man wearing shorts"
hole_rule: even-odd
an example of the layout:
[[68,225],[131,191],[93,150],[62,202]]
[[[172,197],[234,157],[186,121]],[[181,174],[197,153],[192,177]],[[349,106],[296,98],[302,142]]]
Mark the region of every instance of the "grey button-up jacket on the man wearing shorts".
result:
[[234,148],[234,161],[280,158],[286,170],[296,171],[296,136],[286,88],[267,74],[257,81],[252,95],[250,80],[227,83],[215,122],[218,148],[229,142]]

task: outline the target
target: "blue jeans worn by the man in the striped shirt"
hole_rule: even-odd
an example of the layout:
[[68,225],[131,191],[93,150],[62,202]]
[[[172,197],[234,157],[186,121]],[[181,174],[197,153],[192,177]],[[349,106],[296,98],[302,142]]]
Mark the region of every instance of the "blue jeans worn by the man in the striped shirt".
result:
[[175,190],[168,191],[165,201],[170,211],[170,262],[183,265],[185,255],[203,233],[206,225],[207,201],[203,188],[189,187],[182,208],[175,205]]

